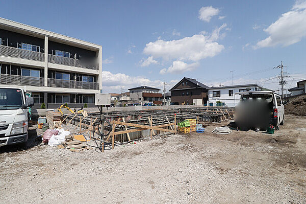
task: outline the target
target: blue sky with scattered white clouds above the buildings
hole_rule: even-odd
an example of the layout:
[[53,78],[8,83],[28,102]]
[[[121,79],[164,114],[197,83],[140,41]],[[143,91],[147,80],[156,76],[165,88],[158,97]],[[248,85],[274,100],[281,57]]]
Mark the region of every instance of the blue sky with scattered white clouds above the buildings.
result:
[[[306,1],[1,1],[0,16],[103,47],[103,92],[184,77],[278,91],[306,79]],[[233,80],[232,80],[233,75]]]

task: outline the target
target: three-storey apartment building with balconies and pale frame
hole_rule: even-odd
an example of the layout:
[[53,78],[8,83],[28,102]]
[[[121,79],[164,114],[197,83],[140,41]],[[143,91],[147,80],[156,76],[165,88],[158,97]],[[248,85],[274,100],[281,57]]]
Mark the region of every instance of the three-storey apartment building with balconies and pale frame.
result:
[[[77,31],[77,29],[75,30]],[[0,18],[0,87],[19,87],[34,108],[94,106],[102,89],[102,47]]]

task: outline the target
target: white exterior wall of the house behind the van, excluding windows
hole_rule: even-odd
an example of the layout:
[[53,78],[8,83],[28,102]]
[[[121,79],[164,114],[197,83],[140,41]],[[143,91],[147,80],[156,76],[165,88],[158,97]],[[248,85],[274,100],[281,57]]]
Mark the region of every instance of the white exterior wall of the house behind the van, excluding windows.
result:
[[[228,87],[228,88],[215,88],[215,89],[209,89],[208,90],[208,102],[207,105],[210,106],[210,103],[213,103],[213,106],[217,105],[217,101],[221,101],[222,103],[225,103],[228,107],[235,107],[239,101],[240,96],[236,95],[235,93],[239,92],[239,89],[245,89],[250,88],[250,90],[255,90],[255,86],[240,86],[240,87]],[[213,97],[213,91],[220,90],[220,97]],[[233,90],[233,96],[228,95],[228,90]]]

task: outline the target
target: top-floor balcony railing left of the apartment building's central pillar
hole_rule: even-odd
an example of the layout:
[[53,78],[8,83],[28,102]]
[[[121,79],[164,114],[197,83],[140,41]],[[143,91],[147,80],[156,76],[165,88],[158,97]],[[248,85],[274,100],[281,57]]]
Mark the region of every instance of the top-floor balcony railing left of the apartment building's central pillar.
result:
[[35,61],[44,61],[44,53],[34,52],[30,50],[22,50],[8,46],[0,46],[0,55],[6,57],[17,57],[22,59],[30,59]]

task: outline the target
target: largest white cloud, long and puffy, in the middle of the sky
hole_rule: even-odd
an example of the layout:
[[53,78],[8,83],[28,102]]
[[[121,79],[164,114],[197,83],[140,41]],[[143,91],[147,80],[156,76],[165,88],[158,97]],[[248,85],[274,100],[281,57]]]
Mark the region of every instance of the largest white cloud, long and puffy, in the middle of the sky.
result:
[[215,29],[211,35],[201,32],[202,34],[179,40],[164,41],[159,39],[155,42],[149,42],[146,44],[143,53],[154,58],[181,61],[198,61],[207,57],[214,57],[224,49],[224,46],[216,40],[224,37],[224,34],[220,34],[220,31],[225,27],[226,24],[223,24]]

